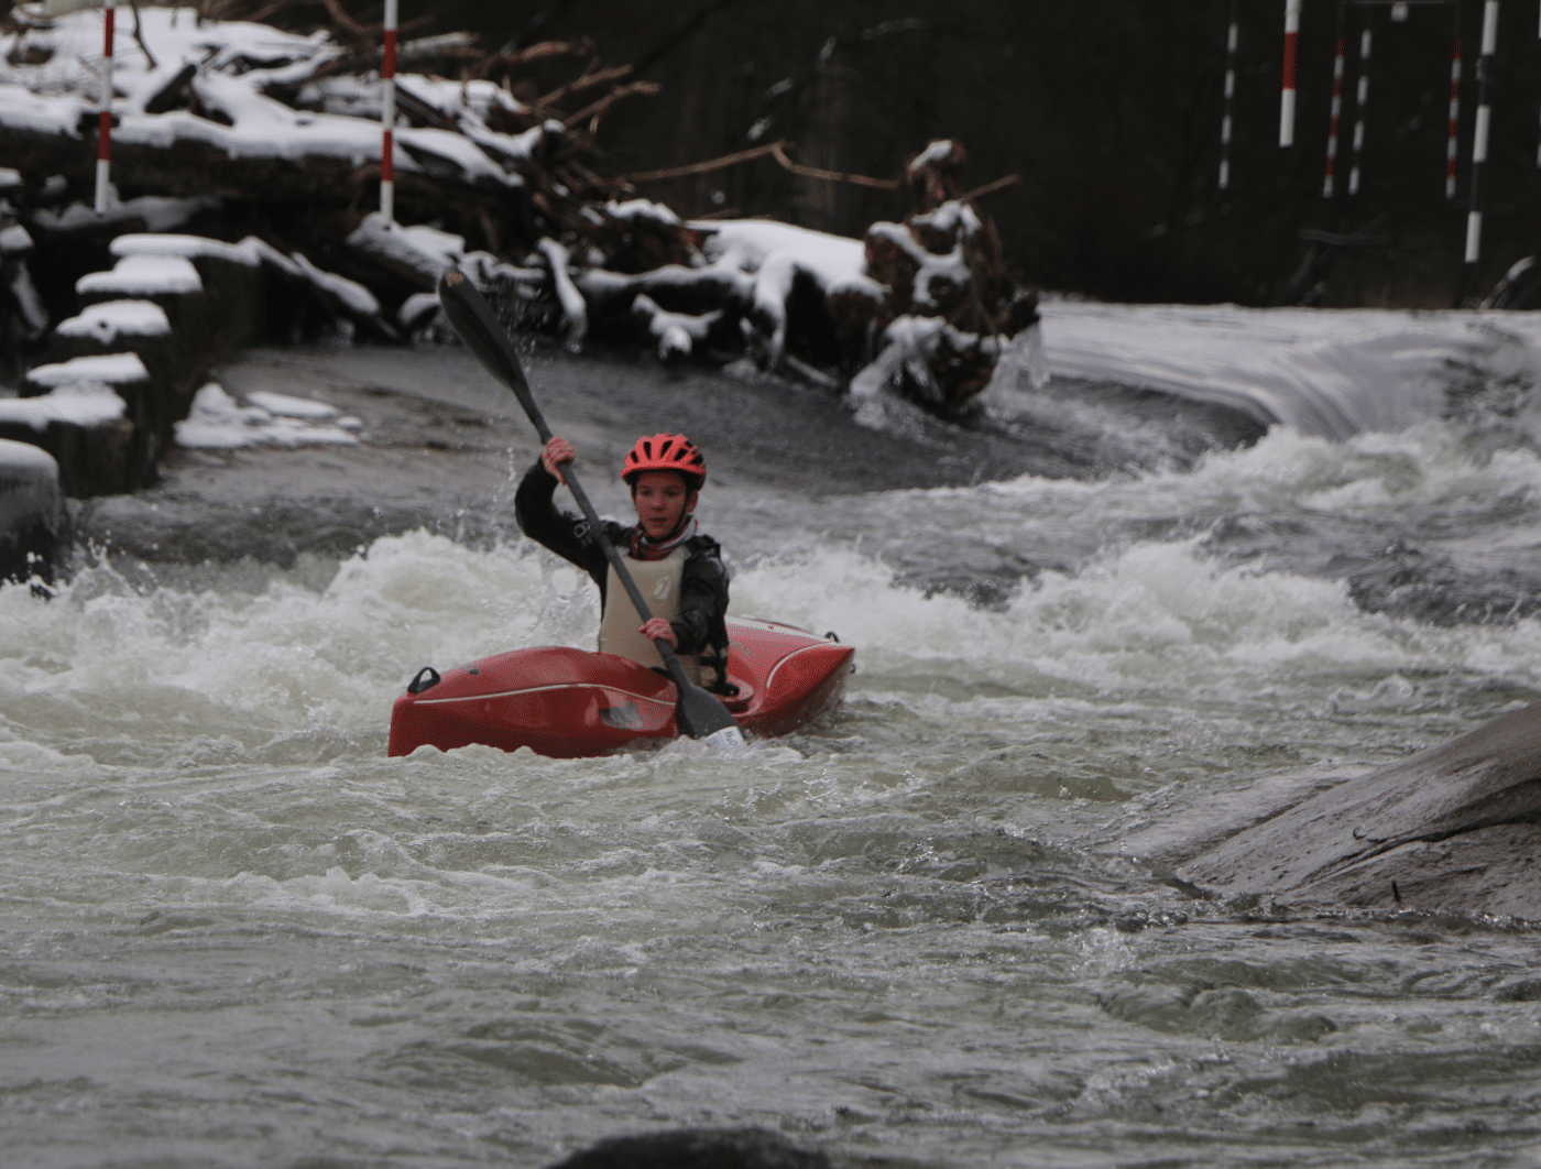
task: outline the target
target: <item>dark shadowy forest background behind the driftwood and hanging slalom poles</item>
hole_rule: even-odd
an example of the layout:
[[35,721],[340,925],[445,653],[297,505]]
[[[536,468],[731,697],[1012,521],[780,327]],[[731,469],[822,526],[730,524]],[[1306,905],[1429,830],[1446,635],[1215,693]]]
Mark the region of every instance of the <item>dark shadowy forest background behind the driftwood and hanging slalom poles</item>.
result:
[[[337,0],[331,0],[336,6]],[[324,0],[203,0],[328,23]],[[379,0],[345,0],[378,22]],[[1277,145],[1282,0],[1239,0],[1231,188],[1217,188],[1230,0],[404,0],[421,31],[470,29],[484,48],[593,39],[661,92],[607,114],[612,174],[693,163],[786,139],[804,165],[894,177],[934,137],[969,152],[1006,254],[1043,288],[1128,300],[1447,306],[1481,297],[1536,251],[1536,12],[1502,6],[1482,259],[1462,262],[1482,5],[1465,45],[1458,196],[1444,197],[1453,6],[1304,0],[1296,145]],[[1333,42],[1348,69],[1339,193],[1322,197]],[[236,14],[234,11],[231,14]],[[1364,183],[1345,194],[1358,42],[1375,29]],[[552,83],[570,62],[553,63]],[[529,79],[541,89],[541,66]],[[3,160],[0,160],[3,165]],[[681,214],[775,216],[860,236],[898,219],[903,193],[801,179],[772,159],[638,183]],[[1302,234],[1304,233],[1304,234]]]

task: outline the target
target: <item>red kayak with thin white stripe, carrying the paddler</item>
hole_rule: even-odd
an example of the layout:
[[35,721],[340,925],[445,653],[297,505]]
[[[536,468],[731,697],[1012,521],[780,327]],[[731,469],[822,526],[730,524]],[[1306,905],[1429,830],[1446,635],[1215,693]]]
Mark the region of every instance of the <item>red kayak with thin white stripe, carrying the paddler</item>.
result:
[[[786,735],[844,695],[852,648],[834,635],[730,618],[727,636],[738,695],[723,701],[746,736]],[[555,759],[604,755],[676,738],[675,698],[675,684],[646,665],[561,645],[498,653],[442,675],[424,667],[391,710],[390,755],[425,742],[445,752],[473,742],[529,747]]]

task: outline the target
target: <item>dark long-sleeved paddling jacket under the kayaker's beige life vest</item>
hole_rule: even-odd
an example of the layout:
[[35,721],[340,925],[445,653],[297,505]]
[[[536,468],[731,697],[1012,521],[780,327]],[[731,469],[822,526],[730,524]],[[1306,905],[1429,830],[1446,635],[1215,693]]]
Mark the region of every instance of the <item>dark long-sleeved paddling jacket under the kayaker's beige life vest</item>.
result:
[[[524,473],[524,479],[519,481],[519,490],[513,496],[513,516],[519,524],[519,531],[589,573],[593,582],[599,585],[601,610],[610,615],[610,561],[599,542],[590,539],[589,521],[558,510],[553,502],[556,485],[556,477],[541,462],[536,462]],[[638,576],[644,574],[652,565],[663,564],[660,561],[646,562],[630,559],[632,527],[626,524],[603,521],[599,539],[613,544],[627,561],[627,567],[635,568],[635,574]],[[700,684],[707,690],[729,692],[727,625],[724,624],[727,615],[727,567],[723,564],[723,550],[710,536],[693,536],[681,548],[684,551],[684,567],[680,573],[678,611],[669,621],[675,636],[680,639],[676,653],[686,667],[686,673],[697,675]],[[647,591],[646,588],[643,590],[644,596]],[[627,613],[635,616],[630,599],[624,591],[621,591],[618,601]],[[604,624],[601,619],[601,630]],[[641,625],[641,619],[636,624]],[[632,655],[627,653],[624,656]],[[650,664],[644,662],[644,665]]]

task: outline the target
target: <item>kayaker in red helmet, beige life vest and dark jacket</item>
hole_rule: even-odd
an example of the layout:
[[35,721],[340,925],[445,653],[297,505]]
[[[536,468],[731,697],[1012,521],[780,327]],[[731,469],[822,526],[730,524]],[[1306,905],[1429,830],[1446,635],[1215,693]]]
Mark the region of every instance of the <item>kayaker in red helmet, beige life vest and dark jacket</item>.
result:
[[599,651],[616,653],[655,670],[663,638],[680,655],[686,675],[707,690],[734,693],[727,681],[727,567],[715,539],[704,534],[695,507],[706,484],[706,457],[684,434],[649,434],[626,454],[621,479],[632,488],[636,524],[607,521],[601,539],[627,561],[636,587],[653,610],[641,624],[604,548],[590,539],[589,524],[556,508],[553,494],[566,485],[562,464],[576,457],[573,445],[553,437],[519,482],[513,514],[519,530],[582,568],[599,585]]

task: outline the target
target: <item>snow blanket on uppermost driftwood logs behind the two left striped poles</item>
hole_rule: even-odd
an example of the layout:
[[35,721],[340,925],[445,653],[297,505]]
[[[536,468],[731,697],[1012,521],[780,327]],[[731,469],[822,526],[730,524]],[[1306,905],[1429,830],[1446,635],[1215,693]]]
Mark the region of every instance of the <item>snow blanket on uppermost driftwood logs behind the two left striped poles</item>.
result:
[[[94,129],[102,14],[85,9],[48,18],[39,6],[23,5],[14,18],[22,29],[0,35],[0,146],[11,145],[18,159],[54,156]],[[378,77],[361,82],[376,94],[373,106],[359,111],[371,117],[296,108],[274,95],[294,94],[344,57],[345,49],[327,34],[300,37],[248,22],[202,20],[191,8],[140,8],[137,25],[136,37],[131,22],[120,20],[112,46],[114,166],[131,177],[139,166],[157,168],[151,152],[180,152],[186,162],[213,165],[211,173],[180,176],[186,188],[214,177],[256,176],[267,165],[282,168],[296,191],[305,191],[379,165]],[[447,117],[472,122],[482,139],[478,145],[459,129],[404,125],[393,159],[404,176],[431,174],[493,189],[522,182],[488,151],[519,157],[529,152],[525,140],[487,128],[475,103],[445,97],[433,79],[404,74],[399,85],[433,92]]]

